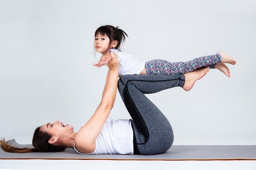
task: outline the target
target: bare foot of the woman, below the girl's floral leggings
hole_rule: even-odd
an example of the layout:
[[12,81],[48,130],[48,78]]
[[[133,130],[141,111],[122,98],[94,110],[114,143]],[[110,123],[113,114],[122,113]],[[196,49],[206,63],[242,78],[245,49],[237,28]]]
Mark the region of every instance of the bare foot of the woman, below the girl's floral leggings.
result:
[[185,84],[183,86],[183,89],[185,91],[190,91],[190,89],[194,86],[195,82],[200,78],[204,77],[208,71],[209,67],[204,67],[193,72],[184,74]]

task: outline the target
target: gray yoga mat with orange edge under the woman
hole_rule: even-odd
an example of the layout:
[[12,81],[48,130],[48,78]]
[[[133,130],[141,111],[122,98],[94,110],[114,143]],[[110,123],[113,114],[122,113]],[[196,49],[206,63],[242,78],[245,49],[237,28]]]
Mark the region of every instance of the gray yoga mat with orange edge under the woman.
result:
[[[12,145],[20,145],[14,139]],[[109,159],[109,160],[256,160],[256,145],[174,145],[159,155],[81,155],[71,148],[64,152],[8,153],[0,149],[0,159]]]

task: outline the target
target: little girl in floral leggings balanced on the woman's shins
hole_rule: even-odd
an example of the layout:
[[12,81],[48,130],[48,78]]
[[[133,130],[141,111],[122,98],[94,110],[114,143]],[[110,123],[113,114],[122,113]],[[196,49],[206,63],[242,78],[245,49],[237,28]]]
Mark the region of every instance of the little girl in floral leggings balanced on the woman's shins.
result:
[[94,48],[103,56],[94,66],[101,67],[111,60],[110,52],[118,54],[120,63],[119,77],[122,75],[168,75],[168,74],[185,74],[198,68],[209,66],[217,68],[225,75],[230,77],[229,68],[224,63],[236,64],[236,60],[229,57],[223,52],[216,55],[208,55],[195,58],[189,62],[168,62],[166,60],[151,60],[142,62],[137,57],[123,53],[119,50],[120,45],[124,42],[125,36],[128,35],[118,27],[111,25],[100,26],[95,31]]

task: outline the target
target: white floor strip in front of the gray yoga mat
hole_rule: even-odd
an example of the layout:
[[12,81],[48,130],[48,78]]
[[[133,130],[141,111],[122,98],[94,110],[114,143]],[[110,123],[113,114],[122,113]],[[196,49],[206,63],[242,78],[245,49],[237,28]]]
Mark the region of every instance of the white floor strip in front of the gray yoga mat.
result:
[[256,170],[256,161],[0,160],[0,170]]

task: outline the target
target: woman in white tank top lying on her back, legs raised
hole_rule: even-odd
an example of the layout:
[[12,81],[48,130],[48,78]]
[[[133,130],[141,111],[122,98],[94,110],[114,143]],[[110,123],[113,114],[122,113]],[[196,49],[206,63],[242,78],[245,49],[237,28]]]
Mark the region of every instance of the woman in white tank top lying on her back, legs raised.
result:
[[[36,128],[32,144],[35,148],[16,148],[0,141],[6,152],[59,152],[73,148],[81,154],[141,154],[163,153],[173,144],[173,130],[162,112],[144,95],[175,86],[189,91],[209,67],[184,75],[124,75],[118,81],[119,62],[111,53],[108,75],[101,102],[79,132],[60,121]],[[132,120],[114,121],[108,116],[117,93]]]

